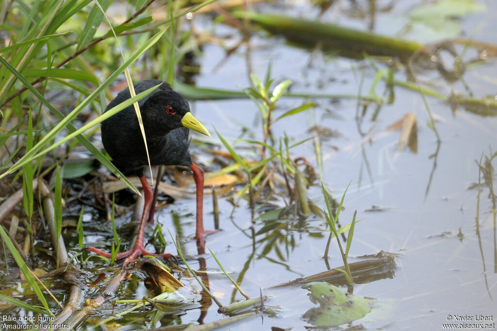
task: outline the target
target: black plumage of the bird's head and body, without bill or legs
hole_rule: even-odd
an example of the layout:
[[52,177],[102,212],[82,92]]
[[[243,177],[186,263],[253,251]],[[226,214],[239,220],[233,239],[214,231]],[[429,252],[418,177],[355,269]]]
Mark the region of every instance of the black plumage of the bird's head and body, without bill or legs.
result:
[[[142,115],[151,165],[190,166],[188,152],[188,128],[181,124],[181,118],[190,111],[183,96],[171,89],[169,84],[159,80],[147,80],[135,84],[136,94],[157,84],[152,93],[138,101]],[[109,103],[106,111],[131,97],[129,89],[119,92]],[[172,106],[176,114],[166,113],[166,106]],[[123,133],[126,134],[123,134]],[[102,122],[102,143],[107,153],[125,175],[143,175],[148,165],[142,132],[138,125],[133,105],[123,109]]]

